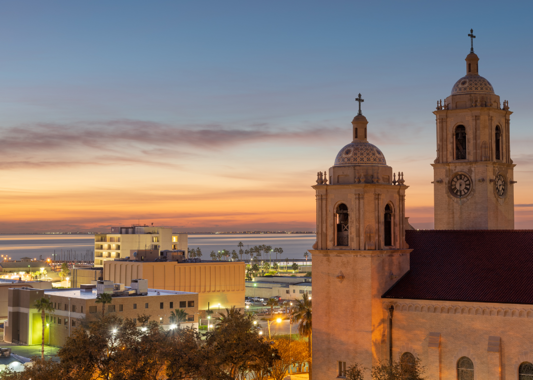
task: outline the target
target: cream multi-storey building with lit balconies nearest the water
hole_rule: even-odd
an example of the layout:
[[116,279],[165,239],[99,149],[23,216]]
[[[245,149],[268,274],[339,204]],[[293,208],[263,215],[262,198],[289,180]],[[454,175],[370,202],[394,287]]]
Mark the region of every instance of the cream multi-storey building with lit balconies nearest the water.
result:
[[94,266],[106,261],[132,257],[138,250],[184,250],[187,253],[187,233],[172,233],[172,228],[133,225],[112,227],[111,233],[94,235]]

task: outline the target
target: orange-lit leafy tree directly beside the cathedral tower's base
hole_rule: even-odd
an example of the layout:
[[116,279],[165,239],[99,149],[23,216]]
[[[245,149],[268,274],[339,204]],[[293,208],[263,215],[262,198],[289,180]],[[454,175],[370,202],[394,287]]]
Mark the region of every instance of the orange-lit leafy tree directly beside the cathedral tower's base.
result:
[[295,341],[285,337],[274,337],[274,349],[278,351],[279,359],[272,364],[272,377],[274,380],[282,380],[289,367],[294,363],[309,361],[309,349],[303,340]]

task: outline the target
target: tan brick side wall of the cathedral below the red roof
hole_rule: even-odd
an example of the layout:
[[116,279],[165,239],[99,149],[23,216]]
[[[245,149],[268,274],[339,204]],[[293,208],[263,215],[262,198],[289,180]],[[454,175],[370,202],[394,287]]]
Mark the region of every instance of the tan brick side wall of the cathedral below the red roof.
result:
[[[462,356],[474,362],[477,380],[516,380],[520,363],[533,362],[531,305],[387,301],[391,302],[384,300],[384,322],[386,309],[390,304],[395,308],[394,359],[405,351],[415,354],[426,366],[428,380],[455,380],[456,362]],[[440,347],[428,347],[430,333],[440,333]],[[500,338],[499,352],[488,350],[489,336]],[[387,339],[383,359],[388,357],[388,344]]]

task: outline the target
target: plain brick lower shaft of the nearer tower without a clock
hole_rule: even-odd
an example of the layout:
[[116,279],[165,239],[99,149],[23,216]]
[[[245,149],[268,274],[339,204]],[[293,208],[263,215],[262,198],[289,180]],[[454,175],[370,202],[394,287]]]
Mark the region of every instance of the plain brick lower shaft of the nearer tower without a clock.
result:
[[381,296],[409,270],[410,250],[310,252],[314,265],[313,377],[336,378],[337,361],[372,367],[382,356]]

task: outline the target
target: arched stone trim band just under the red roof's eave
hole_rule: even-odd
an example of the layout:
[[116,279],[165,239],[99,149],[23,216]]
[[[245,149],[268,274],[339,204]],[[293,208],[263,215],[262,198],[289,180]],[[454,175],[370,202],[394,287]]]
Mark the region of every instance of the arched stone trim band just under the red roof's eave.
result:
[[384,302],[383,309],[394,306],[395,312],[421,312],[436,314],[467,314],[470,316],[485,317],[512,317],[512,318],[533,318],[533,308],[484,306],[476,304],[454,304],[454,303],[414,303],[414,302]]

